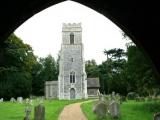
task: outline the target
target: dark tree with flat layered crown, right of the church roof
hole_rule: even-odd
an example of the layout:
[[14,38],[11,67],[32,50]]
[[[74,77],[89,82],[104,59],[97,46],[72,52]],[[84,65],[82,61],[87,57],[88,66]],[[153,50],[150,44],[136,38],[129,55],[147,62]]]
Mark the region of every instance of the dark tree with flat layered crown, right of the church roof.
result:
[[[112,91],[119,92],[121,94],[126,93],[123,70],[126,64],[126,53],[123,49],[114,48],[110,50],[104,50],[104,54],[107,56],[107,61],[102,63],[101,68],[105,70],[101,74],[101,79],[104,82],[105,76],[105,92],[111,93]],[[102,69],[100,70],[102,73]],[[122,79],[123,78],[123,79]],[[106,89],[107,88],[107,89]]]

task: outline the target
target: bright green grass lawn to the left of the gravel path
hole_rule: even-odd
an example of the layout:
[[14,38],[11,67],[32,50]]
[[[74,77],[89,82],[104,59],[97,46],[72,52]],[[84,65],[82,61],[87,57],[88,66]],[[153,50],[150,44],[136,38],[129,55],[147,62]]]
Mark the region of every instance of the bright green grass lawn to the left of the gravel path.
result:
[[[81,101],[84,100],[45,100],[44,106],[46,120],[57,120],[65,105]],[[34,105],[36,105],[36,102],[34,101],[33,103],[31,113],[32,120],[34,115]],[[23,120],[25,116],[24,110],[25,104],[11,102],[0,103],[0,120]]]

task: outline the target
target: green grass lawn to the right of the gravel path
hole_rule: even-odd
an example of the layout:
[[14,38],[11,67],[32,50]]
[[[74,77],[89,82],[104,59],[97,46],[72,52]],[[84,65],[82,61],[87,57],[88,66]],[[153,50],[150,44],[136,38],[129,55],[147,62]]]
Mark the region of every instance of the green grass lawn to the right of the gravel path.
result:
[[[98,120],[92,112],[93,102],[83,103],[81,108],[86,114],[88,120]],[[124,102],[120,107],[120,120],[152,120],[155,112],[160,112],[159,102]],[[104,119],[110,120],[110,119]]]

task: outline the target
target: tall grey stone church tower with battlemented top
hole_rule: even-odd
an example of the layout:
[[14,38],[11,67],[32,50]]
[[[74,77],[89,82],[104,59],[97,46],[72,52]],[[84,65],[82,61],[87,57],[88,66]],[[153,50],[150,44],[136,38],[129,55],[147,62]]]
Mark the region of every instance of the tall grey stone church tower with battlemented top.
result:
[[81,23],[63,24],[59,61],[59,99],[87,98]]

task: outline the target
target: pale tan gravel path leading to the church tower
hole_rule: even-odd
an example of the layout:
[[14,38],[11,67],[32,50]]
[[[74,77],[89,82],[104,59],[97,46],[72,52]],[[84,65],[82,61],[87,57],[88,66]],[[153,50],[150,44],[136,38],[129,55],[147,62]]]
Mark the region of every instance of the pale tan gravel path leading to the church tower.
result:
[[87,120],[81,110],[81,104],[82,102],[65,106],[58,120]]

